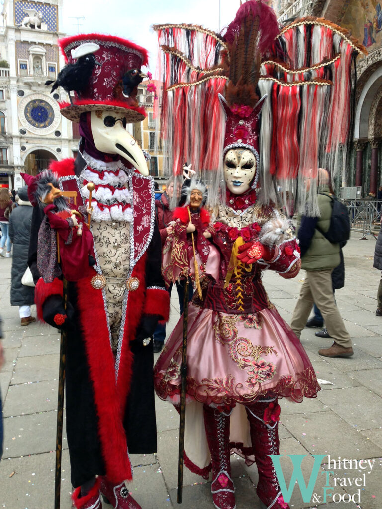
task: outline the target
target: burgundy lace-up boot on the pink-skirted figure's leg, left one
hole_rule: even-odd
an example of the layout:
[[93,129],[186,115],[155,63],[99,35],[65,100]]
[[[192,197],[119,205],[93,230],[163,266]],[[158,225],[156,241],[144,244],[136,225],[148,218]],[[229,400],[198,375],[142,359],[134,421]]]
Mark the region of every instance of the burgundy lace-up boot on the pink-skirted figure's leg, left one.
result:
[[235,487],[231,479],[230,416],[204,405],[204,425],[212,459],[213,504],[217,509],[235,509]]

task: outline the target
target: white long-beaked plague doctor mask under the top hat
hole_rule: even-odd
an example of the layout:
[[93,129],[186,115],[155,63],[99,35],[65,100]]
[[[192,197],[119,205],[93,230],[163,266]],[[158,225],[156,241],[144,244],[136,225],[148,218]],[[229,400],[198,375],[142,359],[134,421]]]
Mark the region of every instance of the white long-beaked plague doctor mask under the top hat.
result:
[[90,125],[94,145],[106,154],[119,154],[127,159],[144,177],[149,175],[145,156],[129,132],[123,112],[113,110],[91,111]]

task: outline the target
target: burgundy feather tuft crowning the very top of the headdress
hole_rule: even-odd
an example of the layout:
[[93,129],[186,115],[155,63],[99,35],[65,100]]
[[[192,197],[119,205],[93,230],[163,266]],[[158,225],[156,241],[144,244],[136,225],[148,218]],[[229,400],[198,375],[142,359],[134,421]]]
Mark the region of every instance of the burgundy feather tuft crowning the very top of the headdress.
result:
[[229,44],[233,44],[235,38],[240,33],[242,22],[250,15],[259,18],[259,32],[261,36],[258,49],[260,53],[265,53],[270,49],[275,37],[279,34],[279,25],[275,11],[262,2],[262,0],[245,2],[237,11],[235,19],[228,25],[224,38]]

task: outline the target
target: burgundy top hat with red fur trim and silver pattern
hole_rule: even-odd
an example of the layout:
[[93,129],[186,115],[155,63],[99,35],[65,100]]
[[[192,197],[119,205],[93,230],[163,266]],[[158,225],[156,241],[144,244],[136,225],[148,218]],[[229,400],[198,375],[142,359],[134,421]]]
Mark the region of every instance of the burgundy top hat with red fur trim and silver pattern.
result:
[[127,122],[141,122],[145,117],[144,108],[138,105],[137,89],[125,97],[122,94],[122,80],[128,71],[140,69],[148,64],[148,52],[145,48],[120,37],[102,34],[80,34],[59,40],[59,46],[67,64],[74,64],[83,54],[81,48],[86,43],[99,49],[91,52],[97,62],[89,84],[80,93],[74,92],[73,104],[60,103],[61,114],[69,120],[78,122],[85,111],[108,110],[124,111]]

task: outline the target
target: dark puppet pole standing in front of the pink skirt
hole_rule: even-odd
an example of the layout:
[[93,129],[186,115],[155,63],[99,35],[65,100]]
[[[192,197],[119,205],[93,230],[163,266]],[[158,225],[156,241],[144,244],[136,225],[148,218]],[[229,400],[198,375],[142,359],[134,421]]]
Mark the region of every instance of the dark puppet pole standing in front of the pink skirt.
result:
[[176,501],[182,503],[183,490],[183,453],[184,453],[184,419],[186,412],[186,375],[187,375],[187,316],[188,316],[188,277],[185,279],[183,295],[183,336],[182,363],[180,366],[180,407],[179,407],[179,451],[178,451],[178,490]]

